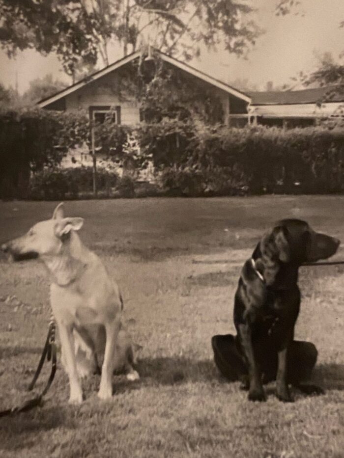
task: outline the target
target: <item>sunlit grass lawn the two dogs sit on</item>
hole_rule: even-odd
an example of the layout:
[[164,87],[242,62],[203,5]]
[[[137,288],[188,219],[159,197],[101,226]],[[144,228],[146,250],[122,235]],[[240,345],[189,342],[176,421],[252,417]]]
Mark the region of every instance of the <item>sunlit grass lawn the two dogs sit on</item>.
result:
[[[53,202],[0,203],[0,241],[52,215]],[[70,406],[58,365],[42,408],[0,419],[0,456],[42,457],[344,457],[344,269],[300,269],[296,338],[319,351],[314,381],[325,395],[294,391],[283,404],[247,401],[222,379],[210,338],[233,332],[240,264],[282,217],[306,219],[344,242],[344,197],[264,196],[67,202],[86,219],[81,237],[118,281],[128,329],[143,346],[141,379],[114,377],[110,402],[85,382],[86,401]],[[336,255],[341,258],[341,253]],[[344,258],[344,252],[342,252]],[[196,261],[196,262],[195,262]],[[0,261],[0,409],[28,399],[49,321],[49,284],[37,261]],[[42,371],[42,389],[49,368]]]

